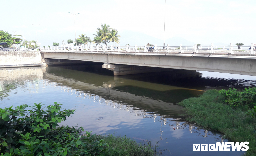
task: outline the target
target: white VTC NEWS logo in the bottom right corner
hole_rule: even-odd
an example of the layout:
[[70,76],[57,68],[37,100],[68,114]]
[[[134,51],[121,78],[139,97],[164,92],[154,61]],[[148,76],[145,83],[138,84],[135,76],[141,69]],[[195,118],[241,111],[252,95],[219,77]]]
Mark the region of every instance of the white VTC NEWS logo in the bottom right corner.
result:
[[247,146],[249,142],[216,142],[216,144],[193,144],[193,151],[247,151],[249,146]]

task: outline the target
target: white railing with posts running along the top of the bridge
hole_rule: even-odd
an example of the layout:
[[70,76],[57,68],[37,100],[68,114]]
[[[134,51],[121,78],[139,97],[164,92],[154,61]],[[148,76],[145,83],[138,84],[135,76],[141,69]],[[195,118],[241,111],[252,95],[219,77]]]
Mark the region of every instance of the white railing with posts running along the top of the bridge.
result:
[[233,46],[232,43],[230,46],[197,46],[194,44],[193,46],[56,46],[56,47],[47,47],[41,48],[40,51],[87,51],[87,52],[129,52],[129,53],[170,53],[170,52],[194,52],[194,53],[233,53],[233,52],[249,52],[249,54],[254,54],[255,45],[252,43],[251,46]]

